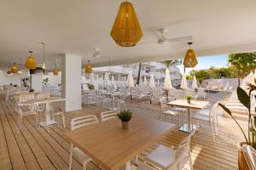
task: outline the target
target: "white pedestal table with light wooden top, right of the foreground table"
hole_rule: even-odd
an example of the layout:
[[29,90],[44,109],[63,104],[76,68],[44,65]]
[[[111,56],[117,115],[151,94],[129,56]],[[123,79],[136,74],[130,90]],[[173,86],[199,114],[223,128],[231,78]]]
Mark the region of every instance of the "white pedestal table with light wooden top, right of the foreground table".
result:
[[201,101],[201,100],[195,100],[192,99],[190,103],[187,101],[187,99],[176,99],[169,103],[168,105],[172,105],[175,107],[181,107],[187,109],[188,114],[188,123],[183,124],[182,127],[179,128],[180,131],[190,133],[193,129],[196,129],[196,125],[192,123],[192,109],[201,110],[205,108],[210,103],[208,101]]

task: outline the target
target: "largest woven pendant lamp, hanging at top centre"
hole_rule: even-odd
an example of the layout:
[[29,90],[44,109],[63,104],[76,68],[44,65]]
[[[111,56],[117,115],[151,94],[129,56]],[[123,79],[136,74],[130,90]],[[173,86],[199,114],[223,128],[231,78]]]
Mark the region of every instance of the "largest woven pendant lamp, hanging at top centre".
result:
[[120,4],[110,35],[121,47],[135,46],[143,37],[137,14],[130,2]]

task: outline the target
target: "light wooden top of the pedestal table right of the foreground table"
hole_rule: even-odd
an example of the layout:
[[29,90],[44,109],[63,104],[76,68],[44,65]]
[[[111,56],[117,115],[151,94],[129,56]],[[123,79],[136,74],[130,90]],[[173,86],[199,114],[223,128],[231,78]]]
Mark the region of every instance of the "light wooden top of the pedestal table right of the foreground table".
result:
[[177,99],[168,103],[168,105],[174,105],[174,106],[180,106],[180,107],[186,107],[186,108],[192,108],[192,109],[203,109],[208,104],[210,104],[208,101],[200,101],[200,100],[194,100],[194,99],[191,99],[190,104],[187,102],[187,99]]

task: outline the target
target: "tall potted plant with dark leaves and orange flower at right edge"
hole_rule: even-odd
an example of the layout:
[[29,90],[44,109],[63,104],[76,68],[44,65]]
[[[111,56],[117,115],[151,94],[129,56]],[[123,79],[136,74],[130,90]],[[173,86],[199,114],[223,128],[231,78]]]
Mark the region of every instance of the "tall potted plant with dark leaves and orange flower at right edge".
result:
[[[256,83],[256,79],[254,79],[254,82]],[[247,124],[247,135],[246,133],[242,130],[240,124],[236,121],[236,119],[232,116],[232,112],[225,107],[222,104],[218,104],[220,105],[225,112],[227,112],[232,119],[236,122],[237,126],[240,128],[241,133],[244,136],[245,141],[241,141],[239,144],[237,144],[237,149],[238,149],[238,167],[239,169],[243,169],[243,170],[247,170],[248,165],[247,165],[247,161],[245,160],[245,157],[243,156],[242,150],[241,150],[241,146],[242,144],[249,144],[251,146],[253,146],[254,149],[256,149],[256,122],[254,120],[256,120],[256,116],[252,116],[251,114],[251,98],[253,97],[251,94],[254,90],[256,90],[256,86],[253,85],[252,83],[247,82],[247,86],[248,86],[248,90],[249,93],[247,94],[247,92],[245,90],[243,90],[242,88],[238,87],[236,90],[237,93],[237,97],[239,99],[239,101],[241,102],[242,105],[244,105],[247,108],[248,111],[248,124]],[[256,109],[256,108],[255,108]]]

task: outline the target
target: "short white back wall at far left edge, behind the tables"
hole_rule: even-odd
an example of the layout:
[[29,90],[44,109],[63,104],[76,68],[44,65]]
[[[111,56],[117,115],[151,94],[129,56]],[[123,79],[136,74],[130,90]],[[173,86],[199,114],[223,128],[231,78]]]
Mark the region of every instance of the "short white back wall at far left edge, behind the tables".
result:
[[9,75],[6,71],[0,71],[0,86],[9,85],[10,83],[20,86],[20,74]]

